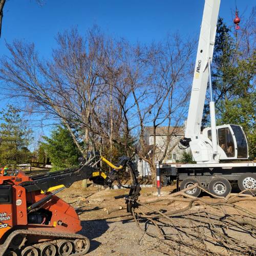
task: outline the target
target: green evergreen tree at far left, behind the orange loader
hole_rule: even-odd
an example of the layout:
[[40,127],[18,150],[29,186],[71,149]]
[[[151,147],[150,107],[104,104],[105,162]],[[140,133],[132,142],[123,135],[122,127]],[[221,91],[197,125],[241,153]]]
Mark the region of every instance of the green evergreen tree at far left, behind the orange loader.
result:
[[28,129],[28,120],[24,119],[20,110],[12,105],[8,105],[0,115],[0,164],[10,164],[15,168],[18,163],[28,163],[31,158],[28,146],[32,133]]

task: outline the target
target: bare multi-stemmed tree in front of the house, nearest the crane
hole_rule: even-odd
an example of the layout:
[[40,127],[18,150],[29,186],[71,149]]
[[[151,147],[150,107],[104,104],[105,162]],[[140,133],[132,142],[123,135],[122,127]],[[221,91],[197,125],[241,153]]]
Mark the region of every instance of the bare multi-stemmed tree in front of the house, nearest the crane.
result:
[[[163,160],[169,153],[169,141],[175,130],[171,125],[180,124],[182,111],[186,107],[189,84],[185,79],[189,74],[189,59],[194,46],[191,42],[183,42],[176,35],[173,39],[167,38],[163,44],[152,45],[150,48],[137,47],[133,52],[132,63],[125,60],[127,80],[131,87],[131,95],[135,107],[131,110],[136,113],[138,122],[133,124],[139,127],[139,157],[144,159],[151,168],[152,179],[156,174],[156,129],[167,124],[168,140],[163,152]],[[130,99],[131,102],[131,99]],[[136,109],[136,111],[135,111]],[[175,118],[178,116],[178,118]],[[147,145],[144,130],[148,125],[153,126],[154,142]],[[131,120],[130,120],[130,127]],[[149,147],[150,146],[150,147]],[[147,154],[148,151],[150,154]]]

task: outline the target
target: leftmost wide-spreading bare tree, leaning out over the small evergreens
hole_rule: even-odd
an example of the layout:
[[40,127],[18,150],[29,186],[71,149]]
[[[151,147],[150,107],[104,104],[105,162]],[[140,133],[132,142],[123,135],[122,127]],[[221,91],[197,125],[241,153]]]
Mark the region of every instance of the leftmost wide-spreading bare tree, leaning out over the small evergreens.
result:
[[89,31],[84,40],[72,30],[59,34],[57,42],[52,61],[40,60],[33,44],[7,44],[11,57],[2,59],[0,76],[10,86],[10,94],[28,100],[34,113],[60,119],[84,154],[74,128],[83,133],[88,147],[88,127],[102,94],[103,83],[97,75],[102,37]]

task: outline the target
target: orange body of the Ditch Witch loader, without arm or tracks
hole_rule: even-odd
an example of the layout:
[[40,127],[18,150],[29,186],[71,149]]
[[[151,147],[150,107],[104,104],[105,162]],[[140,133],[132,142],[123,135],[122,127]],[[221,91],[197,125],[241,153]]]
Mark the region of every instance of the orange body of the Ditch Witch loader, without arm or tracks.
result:
[[36,211],[29,212],[30,205],[51,194],[41,194],[39,189],[27,192],[19,185],[29,181],[31,179],[23,172],[19,172],[17,176],[0,176],[0,244],[15,229],[65,233],[81,230],[75,209],[56,195],[40,205]]

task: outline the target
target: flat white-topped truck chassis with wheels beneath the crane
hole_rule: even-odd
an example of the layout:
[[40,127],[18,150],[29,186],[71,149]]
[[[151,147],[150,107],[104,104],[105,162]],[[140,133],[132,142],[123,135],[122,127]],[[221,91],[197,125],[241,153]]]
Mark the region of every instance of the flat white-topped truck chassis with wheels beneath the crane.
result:
[[[256,193],[255,162],[160,164],[160,174],[164,185],[177,180],[177,189],[199,183],[215,196],[226,196],[237,185],[241,191],[247,190],[247,194]],[[187,191],[191,196],[199,196],[200,193],[200,189]]]

